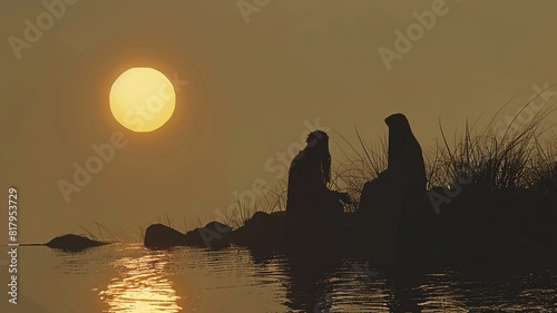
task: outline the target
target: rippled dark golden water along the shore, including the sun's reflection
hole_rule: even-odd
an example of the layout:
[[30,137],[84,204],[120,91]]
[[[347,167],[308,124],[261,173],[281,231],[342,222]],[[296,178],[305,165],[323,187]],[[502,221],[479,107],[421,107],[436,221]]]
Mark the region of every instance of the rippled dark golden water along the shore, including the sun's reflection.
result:
[[555,268],[469,277],[466,268],[392,273],[363,260],[294,262],[241,247],[20,247],[19,304],[4,297],[0,312],[557,312]]

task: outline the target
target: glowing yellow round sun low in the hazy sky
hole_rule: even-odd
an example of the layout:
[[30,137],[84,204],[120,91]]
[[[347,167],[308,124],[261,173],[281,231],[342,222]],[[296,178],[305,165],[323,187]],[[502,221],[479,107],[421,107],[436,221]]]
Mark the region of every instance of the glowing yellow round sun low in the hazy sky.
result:
[[110,111],[124,127],[148,133],[170,119],[176,105],[174,87],[158,70],[131,68],[110,88]]

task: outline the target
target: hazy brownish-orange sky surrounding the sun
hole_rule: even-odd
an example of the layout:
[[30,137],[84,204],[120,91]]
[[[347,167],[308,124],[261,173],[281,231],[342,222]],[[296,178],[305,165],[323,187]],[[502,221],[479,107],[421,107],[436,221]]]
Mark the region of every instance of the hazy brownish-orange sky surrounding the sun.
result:
[[[333,163],[333,129],[355,141],[356,125],[377,140],[399,111],[427,153],[439,118],[452,134],[522,92],[502,117],[512,115],[557,82],[555,1],[46,1],[63,3],[51,26],[40,1],[0,2],[0,203],[19,189],[20,242],[94,221],[130,235],[158,216],[208,222],[252,182],[286,179],[270,159],[290,149],[290,162],[316,120]],[[419,33],[424,11],[436,21]],[[39,38],[13,49],[38,17]],[[417,40],[399,53],[397,31],[409,28]],[[381,47],[399,57],[385,66]],[[179,80],[175,115],[154,133],[110,115],[109,88],[131,67]],[[116,131],[127,145],[66,202],[58,182]]]

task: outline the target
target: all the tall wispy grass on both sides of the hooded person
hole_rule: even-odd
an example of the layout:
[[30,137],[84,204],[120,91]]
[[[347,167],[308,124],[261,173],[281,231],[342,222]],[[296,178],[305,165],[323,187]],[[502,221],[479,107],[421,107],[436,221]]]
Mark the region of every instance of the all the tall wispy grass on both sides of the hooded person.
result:
[[[518,119],[538,97],[528,101],[504,129],[498,129],[497,121],[502,119],[499,115],[505,106],[482,129],[477,130],[479,119],[472,125],[466,121],[463,130],[455,133],[452,144],[439,120],[440,139],[423,149],[428,189],[451,188],[466,178],[466,184],[491,192],[518,193],[528,188],[555,192],[557,137],[549,135],[555,125],[547,123],[555,108],[544,106],[526,123]],[[341,146],[346,160],[336,166],[332,186],[359,199],[365,182],[387,168],[388,140],[383,137],[379,144],[367,144],[358,128],[355,134],[355,145],[338,134],[348,146],[348,149]],[[348,211],[356,207],[358,200]]]

